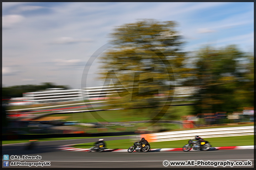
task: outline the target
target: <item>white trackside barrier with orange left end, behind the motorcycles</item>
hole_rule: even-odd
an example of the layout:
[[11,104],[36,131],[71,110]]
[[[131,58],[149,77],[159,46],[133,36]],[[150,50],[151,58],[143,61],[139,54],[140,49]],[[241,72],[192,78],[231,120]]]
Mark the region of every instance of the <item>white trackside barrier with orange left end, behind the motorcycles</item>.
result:
[[142,134],[142,135],[137,135],[132,139],[140,140],[142,137],[144,137],[148,142],[161,142],[161,141],[188,140],[188,139],[194,138],[194,136],[196,135],[201,136],[202,138],[254,135],[254,126],[182,130],[182,131],[175,131],[175,132]]

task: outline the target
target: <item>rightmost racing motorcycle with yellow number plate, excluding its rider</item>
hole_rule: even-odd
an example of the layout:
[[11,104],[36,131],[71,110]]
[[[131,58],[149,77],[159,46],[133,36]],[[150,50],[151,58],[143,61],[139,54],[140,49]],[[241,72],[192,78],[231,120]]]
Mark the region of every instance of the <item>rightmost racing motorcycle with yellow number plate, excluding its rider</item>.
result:
[[194,150],[208,151],[211,147],[212,146],[208,141],[202,141],[199,143],[198,141],[189,140],[188,144],[182,147],[182,150],[187,152],[193,148]]

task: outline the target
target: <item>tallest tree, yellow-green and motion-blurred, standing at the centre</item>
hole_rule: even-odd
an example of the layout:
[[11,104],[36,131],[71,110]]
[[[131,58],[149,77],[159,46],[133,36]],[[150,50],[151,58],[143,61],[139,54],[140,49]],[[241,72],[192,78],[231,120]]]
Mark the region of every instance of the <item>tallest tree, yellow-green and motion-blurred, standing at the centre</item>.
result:
[[176,27],[174,21],[145,19],[114,29],[113,46],[100,58],[100,79],[123,87],[108,100],[110,107],[152,107],[140,113],[151,113],[156,119],[167,111],[169,106],[164,105],[173,94],[173,82],[188,72],[184,42]]

